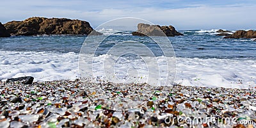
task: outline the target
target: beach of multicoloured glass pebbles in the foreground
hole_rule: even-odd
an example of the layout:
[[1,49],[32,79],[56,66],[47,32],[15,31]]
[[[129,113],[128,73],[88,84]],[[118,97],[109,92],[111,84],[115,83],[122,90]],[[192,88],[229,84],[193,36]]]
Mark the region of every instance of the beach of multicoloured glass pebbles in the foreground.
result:
[[[84,84],[90,85],[90,88]],[[0,126],[169,127],[173,124],[175,127],[189,127],[189,125],[196,127],[255,127],[255,89],[177,85],[168,88],[169,90],[147,92],[148,88],[134,90],[135,87],[146,87],[147,84],[124,85],[132,86],[132,88],[118,90],[117,84],[83,83],[81,81],[35,82],[28,85],[17,82],[9,84],[0,82],[2,99]],[[108,105],[102,101],[106,96],[125,99],[125,97],[140,96],[140,92],[143,91],[147,92],[144,95],[148,94],[149,97],[145,98],[143,100],[145,102],[140,103],[136,108],[122,111],[104,108],[105,105]],[[117,102],[113,99],[110,102],[119,104],[118,107],[132,106],[131,101]],[[221,115],[216,115],[217,110],[221,111]],[[225,125],[220,122],[219,124],[212,124],[212,122],[208,124],[189,124],[187,122],[186,124],[184,120],[183,122],[173,120],[172,123],[168,123],[165,119],[169,115],[176,118],[236,117],[237,122],[242,119],[248,120],[248,122],[252,120],[253,125],[242,126],[234,124],[234,122],[223,123]]]

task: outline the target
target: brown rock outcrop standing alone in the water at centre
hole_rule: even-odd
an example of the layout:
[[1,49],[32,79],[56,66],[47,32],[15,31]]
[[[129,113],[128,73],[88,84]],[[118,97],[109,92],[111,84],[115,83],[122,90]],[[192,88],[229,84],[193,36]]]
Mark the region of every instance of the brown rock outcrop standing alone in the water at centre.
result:
[[182,33],[179,33],[175,30],[173,26],[159,26],[159,25],[149,25],[149,24],[138,24],[138,30],[132,32],[132,35],[137,36],[181,36]]

